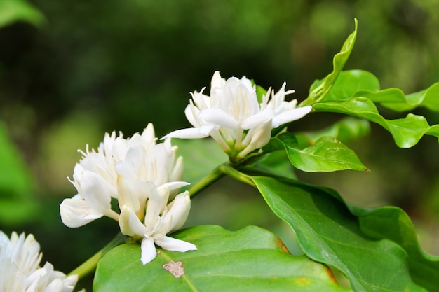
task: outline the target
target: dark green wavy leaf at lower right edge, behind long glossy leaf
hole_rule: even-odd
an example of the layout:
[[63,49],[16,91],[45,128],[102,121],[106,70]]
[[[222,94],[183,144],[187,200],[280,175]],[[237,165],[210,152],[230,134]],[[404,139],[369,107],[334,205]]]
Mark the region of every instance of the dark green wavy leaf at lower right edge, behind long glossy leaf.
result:
[[402,246],[409,258],[412,279],[428,291],[439,291],[432,279],[438,279],[439,257],[431,256],[421,249],[416,232],[409,216],[397,207],[363,209],[349,206],[358,216],[361,229],[365,234],[377,239],[389,239]]

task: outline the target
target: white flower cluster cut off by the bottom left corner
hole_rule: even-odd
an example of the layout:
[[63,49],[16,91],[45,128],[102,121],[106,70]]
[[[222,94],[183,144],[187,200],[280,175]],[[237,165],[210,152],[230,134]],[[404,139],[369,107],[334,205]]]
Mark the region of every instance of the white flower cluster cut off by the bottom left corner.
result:
[[0,292],[72,292],[78,276],[40,267],[42,254],[34,236],[0,231]]

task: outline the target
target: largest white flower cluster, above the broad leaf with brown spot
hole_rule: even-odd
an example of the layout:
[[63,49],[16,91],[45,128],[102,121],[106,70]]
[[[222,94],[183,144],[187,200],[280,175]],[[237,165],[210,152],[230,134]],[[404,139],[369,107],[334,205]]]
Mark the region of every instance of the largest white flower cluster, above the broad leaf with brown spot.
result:
[[[124,139],[105,134],[97,151],[82,152],[71,182],[78,190],[60,205],[62,222],[76,228],[102,216],[119,222],[124,235],[142,239],[142,263],[156,257],[154,244],[170,251],[196,250],[194,244],[166,236],[182,228],[189,215],[189,193],[178,193],[182,158],[170,139],[157,144],[154,127]],[[120,213],[112,209],[117,200]]]

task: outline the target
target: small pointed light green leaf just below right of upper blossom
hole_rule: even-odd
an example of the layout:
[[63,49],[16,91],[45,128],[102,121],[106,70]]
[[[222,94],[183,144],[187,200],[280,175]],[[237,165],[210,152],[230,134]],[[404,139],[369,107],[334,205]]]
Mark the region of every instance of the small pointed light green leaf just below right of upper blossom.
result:
[[335,137],[320,137],[316,143],[300,148],[294,135],[283,133],[276,138],[281,141],[292,165],[304,172],[335,172],[354,169],[369,171],[348,146]]

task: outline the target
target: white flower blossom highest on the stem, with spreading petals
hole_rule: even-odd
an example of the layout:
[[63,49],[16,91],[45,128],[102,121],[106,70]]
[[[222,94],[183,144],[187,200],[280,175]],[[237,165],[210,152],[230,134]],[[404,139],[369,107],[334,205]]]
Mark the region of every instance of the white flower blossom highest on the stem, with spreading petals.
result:
[[194,127],[176,130],[168,137],[195,139],[212,137],[229,155],[231,160],[240,160],[248,153],[262,148],[271,138],[271,130],[285,123],[302,118],[311,111],[311,106],[297,108],[297,100],[285,102],[285,95],[294,90],[269,90],[258,102],[256,88],[245,76],[227,80],[213,74],[210,96],[191,92],[184,113]]

